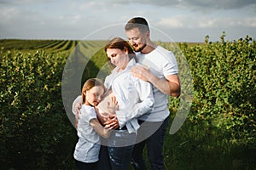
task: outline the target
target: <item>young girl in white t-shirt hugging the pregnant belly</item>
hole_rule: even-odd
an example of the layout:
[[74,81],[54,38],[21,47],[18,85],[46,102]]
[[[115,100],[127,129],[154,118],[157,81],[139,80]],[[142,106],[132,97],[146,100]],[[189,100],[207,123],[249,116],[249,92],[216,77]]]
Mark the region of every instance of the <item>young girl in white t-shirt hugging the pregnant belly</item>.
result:
[[96,78],[91,78],[84,83],[82,89],[83,105],[77,127],[79,141],[73,154],[76,169],[95,170],[101,148],[99,135],[103,138],[108,138],[110,135],[112,127],[102,127],[97,120],[95,111],[95,106],[101,101],[104,92],[104,85]]

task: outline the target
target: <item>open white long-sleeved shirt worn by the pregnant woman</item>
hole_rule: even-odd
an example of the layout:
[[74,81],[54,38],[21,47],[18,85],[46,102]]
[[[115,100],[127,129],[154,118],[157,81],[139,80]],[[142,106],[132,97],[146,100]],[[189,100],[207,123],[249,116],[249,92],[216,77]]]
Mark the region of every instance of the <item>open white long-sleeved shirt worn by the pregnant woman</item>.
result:
[[138,65],[131,59],[125,70],[113,69],[106,77],[105,86],[112,88],[113,95],[119,104],[116,115],[120,128],[126,125],[129,133],[137,132],[139,127],[137,117],[143,116],[154,109],[154,94],[152,85],[131,75],[131,67]]

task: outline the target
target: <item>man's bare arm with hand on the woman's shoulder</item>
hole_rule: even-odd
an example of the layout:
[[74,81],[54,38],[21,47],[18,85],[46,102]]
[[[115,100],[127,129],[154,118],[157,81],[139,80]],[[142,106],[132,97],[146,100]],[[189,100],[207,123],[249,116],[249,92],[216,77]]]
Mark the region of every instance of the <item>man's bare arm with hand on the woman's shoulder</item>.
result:
[[165,79],[160,79],[144,66],[134,66],[131,69],[131,74],[146,82],[151,82],[154,87],[158,88],[163,94],[172,95],[177,98],[180,95],[180,82],[177,74],[166,76]]

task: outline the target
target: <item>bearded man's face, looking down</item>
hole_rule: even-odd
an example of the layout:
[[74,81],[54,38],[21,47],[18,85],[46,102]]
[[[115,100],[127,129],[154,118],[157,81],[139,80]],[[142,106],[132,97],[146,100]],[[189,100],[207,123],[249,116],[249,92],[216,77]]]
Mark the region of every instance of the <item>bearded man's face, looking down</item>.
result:
[[141,52],[147,46],[147,34],[143,34],[138,28],[132,28],[125,33],[135,52]]

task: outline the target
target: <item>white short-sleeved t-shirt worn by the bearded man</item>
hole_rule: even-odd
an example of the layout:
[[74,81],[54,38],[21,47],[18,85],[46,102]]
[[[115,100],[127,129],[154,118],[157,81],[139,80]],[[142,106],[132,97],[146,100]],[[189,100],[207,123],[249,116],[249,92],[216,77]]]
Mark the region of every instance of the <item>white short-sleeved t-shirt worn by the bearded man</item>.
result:
[[[141,65],[146,65],[156,77],[166,79],[165,76],[178,73],[177,61],[171,51],[157,46],[149,54],[137,53],[137,61]],[[160,92],[158,88],[153,86],[154,92],[154,110],[143,116],[138,117],[139,120],[147,122],[164,121],[169,116],[168,95]]]

